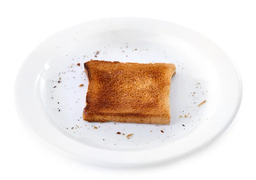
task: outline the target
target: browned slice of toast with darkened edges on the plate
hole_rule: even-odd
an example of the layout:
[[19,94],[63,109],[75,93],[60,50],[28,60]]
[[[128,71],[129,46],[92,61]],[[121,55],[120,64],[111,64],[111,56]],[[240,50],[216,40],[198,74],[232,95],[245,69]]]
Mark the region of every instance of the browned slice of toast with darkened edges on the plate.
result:
[[83,119],[88,122],[169,124],[174,64],[84,63],[89,85]]

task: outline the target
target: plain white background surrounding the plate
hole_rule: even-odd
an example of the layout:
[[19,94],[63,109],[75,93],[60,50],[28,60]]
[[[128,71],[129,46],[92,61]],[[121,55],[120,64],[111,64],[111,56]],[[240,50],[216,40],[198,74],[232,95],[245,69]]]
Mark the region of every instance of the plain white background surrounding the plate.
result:
[[[0,1],[0,179],[256,179],[256,6],[254,0]],[[243,100],[210,146],[154,169],[99,169],[60,153],[26,131],[14,107],[14,80],[26,56],[66,27],[102,17],[150,17],[191,28],[238,67]]]

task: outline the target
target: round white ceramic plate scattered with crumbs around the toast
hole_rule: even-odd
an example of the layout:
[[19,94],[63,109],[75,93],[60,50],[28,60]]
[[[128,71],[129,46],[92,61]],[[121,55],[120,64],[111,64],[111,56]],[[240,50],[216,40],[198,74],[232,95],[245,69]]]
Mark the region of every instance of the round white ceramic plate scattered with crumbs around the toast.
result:
[[[170,125],[82,120],[83,63],[90,59],[174,63]],[[84,163],[118,167],[166,163],[207,145],[230,125],[241,96],[239,73],[215,43],[183,26],[142,18],[96,20],[58,32],[29,54],[15,87],[20,119],[38,137]]]

